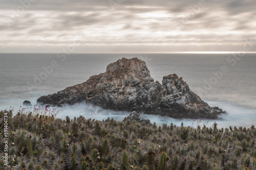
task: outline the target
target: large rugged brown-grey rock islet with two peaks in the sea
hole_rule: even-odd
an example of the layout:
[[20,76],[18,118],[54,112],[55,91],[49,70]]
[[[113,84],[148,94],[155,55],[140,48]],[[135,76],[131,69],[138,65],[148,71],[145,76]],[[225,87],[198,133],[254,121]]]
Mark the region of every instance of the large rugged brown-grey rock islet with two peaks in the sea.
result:
[[122,58],[106,67],[106,72],[84,83],[41,96],[42,104],[73,105],[86,101],[105,109],[140,111],[175,118],[217,118],[222,112],[211,108],[191,91],[177,75],[163,77],[162,85],[150,76],[144,61]]

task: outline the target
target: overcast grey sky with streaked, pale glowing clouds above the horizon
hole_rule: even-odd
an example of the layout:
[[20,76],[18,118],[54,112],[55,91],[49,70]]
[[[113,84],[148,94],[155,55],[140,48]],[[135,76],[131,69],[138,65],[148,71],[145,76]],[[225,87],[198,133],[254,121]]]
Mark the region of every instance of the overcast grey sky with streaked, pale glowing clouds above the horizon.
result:
[[[29,3],[28,3],[29,2]],[[0,53],[237,52],[255,0],[0,0]]]

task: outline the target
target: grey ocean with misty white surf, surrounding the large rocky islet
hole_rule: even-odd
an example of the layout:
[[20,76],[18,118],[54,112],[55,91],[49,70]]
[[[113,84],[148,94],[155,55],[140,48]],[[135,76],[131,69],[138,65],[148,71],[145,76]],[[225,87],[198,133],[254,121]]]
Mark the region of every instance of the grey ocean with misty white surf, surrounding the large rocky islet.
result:
[[[256,126],[256,54],[0,54],[0,109],[15,112],[28,100],[32,105],[41,95],[55,93],[85,82],[89,77],[105,72],[106,66],[122,57],[137,57],[146,62],[155,81],[177,74],[190,89],[210,106],[227,111],[217,120],[174,119],[142,114],[157,125],[174,123],[180,126],[218,127]],[[113,117],[123,120],[129,112],[105,110],[79,103],[57,107],[56,117],[65,119],[82,115],[92,119]]]

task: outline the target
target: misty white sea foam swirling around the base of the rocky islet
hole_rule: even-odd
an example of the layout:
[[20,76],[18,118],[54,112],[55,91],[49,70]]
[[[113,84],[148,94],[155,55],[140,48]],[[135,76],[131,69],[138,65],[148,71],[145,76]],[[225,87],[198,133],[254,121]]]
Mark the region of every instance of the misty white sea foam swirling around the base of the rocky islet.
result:
[[[34,106],[36,104],[36,98],[30,98],[31,104]],[[14,109],[14,113],[17,113],[20,106],[25,107],[22,104],[24,99],[8,99],[6,101],[2,101],[5,103],[5,106],[11,106]],[[221,109],[227,111],[227,113],[223,113],[219,116],[219,119],[208,120],[202,119],[176,119],[168,116],[161,115],[148,115],[141,114],[141,118],[148,118],[151,120],[151,123],[154,122],[161,126],[163,124],[170,125],[173,123],[174,125],[180,126],[183,123],[184,126],[190,126],[196,128],[198,125],[203,126],[204,124],[208,127],[211,127],[214,122],[218,124],[218,128],[228,128],[229,126],[234,127],[251,127],[252,125],[256,126],[256,109],[249,109],[241,106],[236,106],[230,103],[217,102],[217,101],[206,101],[210,106],[218,106]],[[32,107],[33,107],[32,106]],[[125,116],[128,116],[130,113],[125,111],[113,111],[106,110],[98,106],[93,106],[91,104],[86,103],[78,103],[75,105],[66,105],[64,107],[55,107],[59,112],[56,115],[56,118],[66,119],[66,116],[70,118],[79,117],[82,115],[86,119],[96,119],[96,120],[105,120],[110,118],[114,118],[117,121],[122,121]],[[1,110],[10,109],[8,107],[0,107]]]

